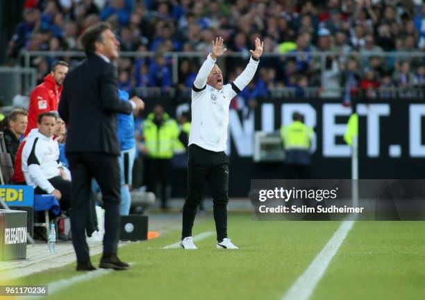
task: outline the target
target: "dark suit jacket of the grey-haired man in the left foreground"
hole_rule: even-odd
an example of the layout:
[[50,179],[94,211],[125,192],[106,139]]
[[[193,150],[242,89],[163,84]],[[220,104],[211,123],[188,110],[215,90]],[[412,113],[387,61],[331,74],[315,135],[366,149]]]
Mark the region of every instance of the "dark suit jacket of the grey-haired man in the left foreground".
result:
[[63,82],[59,114],[67,124],[66,152],[119,154],[116,115],[131,111],[118,98],[115,66],[88,56]]

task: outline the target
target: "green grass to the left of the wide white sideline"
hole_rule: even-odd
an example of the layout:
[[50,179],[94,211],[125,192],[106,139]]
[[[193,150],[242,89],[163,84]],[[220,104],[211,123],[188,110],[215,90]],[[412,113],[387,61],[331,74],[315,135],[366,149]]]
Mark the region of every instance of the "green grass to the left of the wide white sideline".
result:
[[[340,222],[255,222],[231,215],[229,238],[241,249],[215,249],[215,235],[196,251],[160,249],[178,241],[180,231],[131,244],[119,255],[135,266],[78,283],[49,299],[279,299],[322,250]],[[194,235],[215,228],[213,219],[196,224]],[[97,264],[99,256],[92,258]],[[42,284],[75,276],[75,264],[24,279]]]

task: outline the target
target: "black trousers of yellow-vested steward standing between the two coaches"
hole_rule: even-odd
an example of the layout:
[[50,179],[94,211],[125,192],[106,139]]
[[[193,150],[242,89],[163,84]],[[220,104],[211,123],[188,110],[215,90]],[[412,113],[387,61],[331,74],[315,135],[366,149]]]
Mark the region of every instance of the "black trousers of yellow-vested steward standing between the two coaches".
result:
[[161,208],[167,207],[168,198],[171,195],[169,174],[171,173],[171,160],[164,158],[147,158],[145,176],[147,191],[161,197]]

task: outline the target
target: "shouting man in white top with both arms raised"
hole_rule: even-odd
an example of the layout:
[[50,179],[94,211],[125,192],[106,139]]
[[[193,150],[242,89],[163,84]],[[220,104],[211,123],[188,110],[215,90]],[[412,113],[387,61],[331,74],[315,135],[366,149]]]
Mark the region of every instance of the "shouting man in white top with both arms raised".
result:
[[213,48],[199,69],[192,86],[192,126],[189,135],[188,197],[183,207],[183,230],[180,245],[183,249],[197,249],[192,240],[192,227],[202,199],[203,185],[208,182],[213,194],[217,248],[238,249],[227,236],[228,109],[233,97],[248,85],[256,73],[263,54],[263,42],[256,38],[256,49],[251,51],[247,67],[233,81],[223,85],[222,71],[215,64],[226,52],[222,37],[213,41]]

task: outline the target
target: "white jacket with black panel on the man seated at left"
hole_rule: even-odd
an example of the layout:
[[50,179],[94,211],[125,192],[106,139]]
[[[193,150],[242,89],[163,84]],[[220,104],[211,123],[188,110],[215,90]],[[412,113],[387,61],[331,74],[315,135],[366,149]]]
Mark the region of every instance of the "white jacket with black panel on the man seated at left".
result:
[[[33,133],[33,131],[31,131]],[[38,131],[28,135],[22,149],[22,172],[27,185],[39,187],[51,194],[55,188],[48,179],[60,176],[59,145],[53,137]]]

